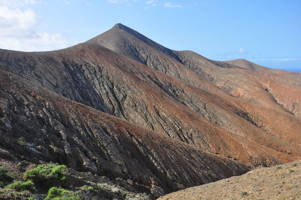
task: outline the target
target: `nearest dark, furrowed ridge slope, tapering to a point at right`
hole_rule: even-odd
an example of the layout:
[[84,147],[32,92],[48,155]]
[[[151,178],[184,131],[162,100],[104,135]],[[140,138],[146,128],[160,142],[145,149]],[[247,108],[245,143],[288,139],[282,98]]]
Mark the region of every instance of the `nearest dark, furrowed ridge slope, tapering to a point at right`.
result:
[[12,73],[0,70],[0,79],[0,147],[18,159],[64,163],[78,171],[122,178],[153,196],[250,169]]

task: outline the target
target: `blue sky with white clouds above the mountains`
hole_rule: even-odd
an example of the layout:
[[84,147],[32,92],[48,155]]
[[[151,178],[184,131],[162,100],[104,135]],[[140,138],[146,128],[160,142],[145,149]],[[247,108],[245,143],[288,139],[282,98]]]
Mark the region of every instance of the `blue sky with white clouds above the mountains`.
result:
[[301,72],[300,0],[0,0],[0,48],[52,50],[122,23],[175,50]]

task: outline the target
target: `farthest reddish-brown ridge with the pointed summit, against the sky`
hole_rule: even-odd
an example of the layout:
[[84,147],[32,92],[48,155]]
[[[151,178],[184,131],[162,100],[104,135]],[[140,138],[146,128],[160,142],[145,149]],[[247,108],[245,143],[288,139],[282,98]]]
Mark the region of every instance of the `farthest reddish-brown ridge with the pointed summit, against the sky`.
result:
[[[296,116],[301,114],[301,74],[291,72],[281,72],[285,75],[274,74],[275,71],[280,73],[279,70],[254,64],[255,68],[260,68],[259,71],[272,74],[241,70],[246,68],[245,64],[233,65],[207,59],[192,51],[170,50],[122,24],[116,24],[110,30],[86,42],[100,44],[197,87],[205,88],[195,83],[197,82],[194,81],[195,74],[191,76],[193,74],[191,71],[208,81],[206,88],[209,90],[212,88],[212,85],[208,85],[210,82],[227,93],[252,103],[278,111],[288,111]],[[189,75],[185,73],[187,69],[183,64],[190,69]],[[272,84],[269,84],[270,82]],[[275,91],[279,85],[283,85],[288,92]],[[268,92],[270,90],[273,92]]]

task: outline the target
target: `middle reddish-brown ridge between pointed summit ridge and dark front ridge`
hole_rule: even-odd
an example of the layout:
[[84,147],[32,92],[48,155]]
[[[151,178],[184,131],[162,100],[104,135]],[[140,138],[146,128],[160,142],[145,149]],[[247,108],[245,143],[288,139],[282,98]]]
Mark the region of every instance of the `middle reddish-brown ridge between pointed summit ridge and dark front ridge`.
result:
[[[1,67],[7,71],[203,150],[252,165],[301,155],[300,119],[237,98],[229,101],[97,44],[52,52],[2,52]],[[270,117],[291,122],[270,125]]]

